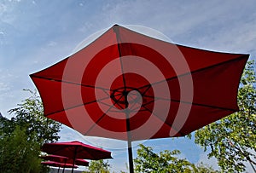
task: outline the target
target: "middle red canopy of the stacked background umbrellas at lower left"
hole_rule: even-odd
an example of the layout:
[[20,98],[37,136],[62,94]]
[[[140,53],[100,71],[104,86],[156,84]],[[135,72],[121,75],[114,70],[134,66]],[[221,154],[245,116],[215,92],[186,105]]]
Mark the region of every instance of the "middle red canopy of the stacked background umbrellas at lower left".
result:
[[[44,160],[49,160],[49,161],[55,161],[59,162],[62,164],[73,164],[73,159],[69,159],[64,156],[58,156],[58,155],[47,155],[47,156],[42,156]],[[84,159],[75,159],[75,163],[77,165],[83,165],[83,166],[88,166],[89,162],[87,162]]]

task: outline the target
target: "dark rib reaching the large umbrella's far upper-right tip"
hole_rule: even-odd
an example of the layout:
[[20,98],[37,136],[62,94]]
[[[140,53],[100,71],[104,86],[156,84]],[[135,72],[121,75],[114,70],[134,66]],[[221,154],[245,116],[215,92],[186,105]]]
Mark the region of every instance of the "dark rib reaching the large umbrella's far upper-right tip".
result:
[[232,60],[229,60],[229,61],[223,61],[223,62],[220,62],[220,63],[218,63],[218,64],[214,64],[214,65],[212,65],[212,66],[206,66],[206,67],[204,67],[204,68],[197,69],[197,70],[192,71],[192,72],[185,72],[185,73],[180,74],[180,75],[177,75],[177,76],[175,76],[175,77],[166,78],[166,79],[164,79],[164,80],[161,80],[161,81],[158,81],[158,82],[155,82],[155,83],[152,83],[152,84],[146,84],[146,85],[144,85],[144,86],[142,86],[142,87],[139,87],[138,89],[143,89],[143,88],[145,88],[145,87],[152,86],[152,85],[154,85],[154,84],[161,84],[161,83],[163,83],[163,82],[166,82],[166,81],[169,81],[169,80],[172,80],[172,79],[175,79],[175,78],[180,78],[180,77],[183,77],[183,76],[186,76],[186,75],[189,75],[189,74],[193,74],[193,73],[195,73],[195,72],[201,72],[201,71],[204,71],[204,70],[206,70],[206,69],[209,69],[209,68],[212,68],[212,67],[215,67],[215,66],[221,66],[221,65],[224,65],[224,64],[226,64],[226,63],[230,63],[231,61],[239,61],[239,60],[241,60],[241,59],[243,59],[243,58],[247,58],[247,55],[242,55],[242,56],[239,56],[239,57],[236,58],[236,59],[232,59]]

